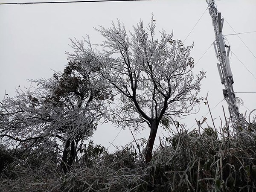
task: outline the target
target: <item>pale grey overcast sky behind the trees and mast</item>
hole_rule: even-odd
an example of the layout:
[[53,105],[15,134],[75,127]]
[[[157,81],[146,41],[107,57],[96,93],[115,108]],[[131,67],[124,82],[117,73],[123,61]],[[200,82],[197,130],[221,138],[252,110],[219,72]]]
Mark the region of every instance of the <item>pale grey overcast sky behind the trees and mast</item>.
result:
[[[12,2],[28,0],[0,0],[0,3]],[[233,29],[236,33],[252,32],[239,35],[244,43],[237,35],[226,38],[233,52],[230,65],[234,91],[256,92],[256,33],[253,32],[256,31],[256,1],[218,0],[215,4],[224,17],[224,35],[235,33]],[[191,52],[196,63],[194,73],[200,70],[207,72],[200,95],[206,97],[208,93],[214,122],[221,126],[220,118],[224,120],[222,106],[226,116],[229,113],[227,103],[223,100],[224,86],[216,67],[218,61],[211,46],[215,35],[207,6],[205,0],[0,5],[0,100],[5,93],[15,96],[15,88],[19,85],[28,87],[28,79],[49,78],[53,75],[53,70],[63,71],[67,64],[65,51],[72,52],[69,38],[82,39],[88,34],[92,43],[101,43],[103,38],[94,27],[102,25],[108,28],[112,20],[115,22],[118,18],[127,30],[132,30],[132,26],[137,25],[140,20],[145,24],[149,23],[151,14],[154,13],[158,31],[164,29],[167,33],[172,33],[173,30],[173,38],[180,39],[185,46],[195,42]],[[243,101],[240,113],[247,111],[248,114],[256,108],[256,94],[236,93],[236,96]],[[186,129],[192,130],[197,128],[195,119],[207,117],[208,125],[212,126],[208,112],[207,105],[201,104],[197,114],[186,116],[180,122],[187,125]],[[159,128],[157,137],[166,137],[168,134]],[[135,138],[147,139],[148,135],[149,129],[134,133]],[[133,136],[130,130],[120,131],[108,123],[99,125],[91,139],[94,143],[110,146],[109,150],[113,151],[115,146],[131,142]],[[158,143],[156,139],[156,145]]]

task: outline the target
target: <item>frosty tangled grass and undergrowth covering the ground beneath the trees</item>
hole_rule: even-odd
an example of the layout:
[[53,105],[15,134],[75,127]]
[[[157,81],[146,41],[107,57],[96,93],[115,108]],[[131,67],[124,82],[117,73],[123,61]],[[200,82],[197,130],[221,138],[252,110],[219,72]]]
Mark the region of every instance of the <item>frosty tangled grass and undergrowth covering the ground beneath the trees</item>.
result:
[[[113,153],[89,143],[83,155],[64,174],[54,160],[7,154],[1,170],[3,192],[253,192],[256,191],[256,134],[222,128],[180,128],[161,140],[145,165],[145,142],[137,140]],[[3,148],[1,148],[4,151]],[[3,154],[3,153],[2,153]],[[5,159],[6,158],[6,159]]]

